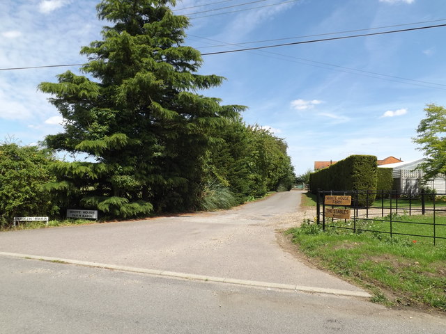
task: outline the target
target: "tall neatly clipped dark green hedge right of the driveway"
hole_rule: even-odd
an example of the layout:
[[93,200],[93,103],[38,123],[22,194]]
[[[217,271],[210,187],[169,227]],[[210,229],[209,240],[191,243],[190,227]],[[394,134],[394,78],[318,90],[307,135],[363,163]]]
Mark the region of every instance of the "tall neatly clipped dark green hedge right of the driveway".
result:
[[[376,191],[378,165],[373,155],[351,155],[344,160],[332,164],[328,168],[318,170],[310,175],[310,189],[316,193],[318,189],[329,191]],[[371,205],[375,194],[360,194],[358,205]]]

